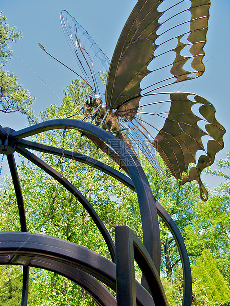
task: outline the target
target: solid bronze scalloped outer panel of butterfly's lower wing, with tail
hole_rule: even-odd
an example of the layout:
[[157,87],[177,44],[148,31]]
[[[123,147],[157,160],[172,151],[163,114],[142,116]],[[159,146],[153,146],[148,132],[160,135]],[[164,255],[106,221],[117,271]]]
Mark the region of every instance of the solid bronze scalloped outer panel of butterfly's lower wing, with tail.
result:
[[[215,109],[206,99],[183,92],[171,93],[170,97],[172,102],[169,115],[155,138],[157,150],[179,184],[198,181],[200,197],[205,201],[208,193],[200,173],[213,164],[216,153],[223,148],[225,129],[216,120]],[[199,116],[191,110],[195,105],[199,106]],[[205,130],[198,125],[202,121]],[[208,137],[206,146],[202,137]],[[196,162],[198,150],[202,150],[205,155],[200,155]],[[189,165],[192,165],[190,169]],[[184,176],[183,172],[186,173]]]

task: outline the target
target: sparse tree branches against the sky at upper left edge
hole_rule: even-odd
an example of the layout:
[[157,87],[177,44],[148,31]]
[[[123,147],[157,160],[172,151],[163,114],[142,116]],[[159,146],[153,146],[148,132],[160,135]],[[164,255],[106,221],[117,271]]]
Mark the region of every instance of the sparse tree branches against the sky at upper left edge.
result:
[[22,37],[16,27],[6,24],[6,17],[0,12],[0,112],[20,112],[27,115],[29,122],[35,122],[31,105],[35,98],[20,85],[12,72],[3,70],[4,64],[10,60],[12,51],[10,43]]

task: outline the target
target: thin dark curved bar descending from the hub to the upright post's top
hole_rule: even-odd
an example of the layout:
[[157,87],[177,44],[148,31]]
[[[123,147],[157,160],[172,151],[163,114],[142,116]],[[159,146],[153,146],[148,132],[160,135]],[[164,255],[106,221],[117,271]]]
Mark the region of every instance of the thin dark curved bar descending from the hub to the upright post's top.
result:
[[62,177],[62,175],[54,170],[52,167],[47,165],[43,160],[35,156],[33,153],[29,152],[26,149],[22,149],[19,147],[15,148],[15,151],[26,157],[28,160],[33,162],[42,170],[46,171],[50,176],[52,176],[55,180],[57,180],[61,185],[63,185],[68,191],[70,191],[73,196],[77,198],[77,200],[82,204],[82,206],[88,211],[89,215],[92,217],[92,220],[95,222],[99,231],[101,232],[111,255],[112,261],[115,262],[115,247],[112,241],[112,238],[109,235],[108,230],[104,226],[103,222],[100,220],[99,216],[93,209],[92,205],[87,201],[87,199],[82,195],[82,193],[74,187],[66,178]]

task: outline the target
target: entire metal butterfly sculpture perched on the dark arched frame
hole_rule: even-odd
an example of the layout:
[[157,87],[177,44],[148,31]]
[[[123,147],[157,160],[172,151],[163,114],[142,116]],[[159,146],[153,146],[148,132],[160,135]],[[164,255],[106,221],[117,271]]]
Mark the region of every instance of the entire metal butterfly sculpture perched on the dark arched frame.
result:
[[[111,63],[81,25],[67,11],[61,12],[62,27],[80,76],[92,88],[81,109],[84,119],[95,120],[136,154],[142,151],[160,174],[156,149],[178,184],[199,183],[204,201],[208,192],[200,174],[223,148],[225,129],[206,99],[187,92],[159,90],[204,73],[209,7],[209,0],[138,0]],[[142,102],[144,99],[147,102]],[[168,111],[163,111],[165,106],[169,106]],[[153,107],[157,107],[155,113]],[[158,129],[148,122],[146,115],[151,122],[153,115],[163,119],[163,127]],[[208,136],[206,145],[203,136]],[[199,150],[203,154],[196,160]]]

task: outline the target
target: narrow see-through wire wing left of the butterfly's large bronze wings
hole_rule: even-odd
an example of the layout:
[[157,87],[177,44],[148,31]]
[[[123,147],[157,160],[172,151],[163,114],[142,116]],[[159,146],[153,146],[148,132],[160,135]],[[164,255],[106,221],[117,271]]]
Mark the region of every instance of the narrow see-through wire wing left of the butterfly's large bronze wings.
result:
[[105,94],[103,72],[108,72],[110,61],[82,26],[67,12],[61,12],[61,24],[77,60],[83,79],[95,93]]

